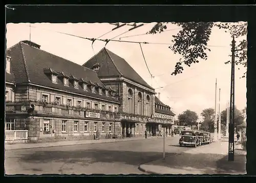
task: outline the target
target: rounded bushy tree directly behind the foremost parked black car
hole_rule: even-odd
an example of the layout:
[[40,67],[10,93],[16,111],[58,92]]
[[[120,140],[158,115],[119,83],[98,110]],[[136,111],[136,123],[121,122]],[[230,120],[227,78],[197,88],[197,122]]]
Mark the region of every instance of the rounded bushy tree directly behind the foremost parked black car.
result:
[[178,119],[180,122],[183,122],[186,126],[192,126],[197,124],[198,115],[194,111],[186,110],[178,116]]

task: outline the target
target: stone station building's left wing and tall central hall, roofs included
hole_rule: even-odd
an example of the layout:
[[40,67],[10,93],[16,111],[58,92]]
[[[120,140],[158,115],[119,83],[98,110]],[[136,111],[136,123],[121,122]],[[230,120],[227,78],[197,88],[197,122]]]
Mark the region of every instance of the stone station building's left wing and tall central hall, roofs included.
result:
[[30,41],[6,55],[6,131],[28,130],[36,142],[94,139],[97,131],[101,138],[152,134],[154,88],[109,50],[83,65]]

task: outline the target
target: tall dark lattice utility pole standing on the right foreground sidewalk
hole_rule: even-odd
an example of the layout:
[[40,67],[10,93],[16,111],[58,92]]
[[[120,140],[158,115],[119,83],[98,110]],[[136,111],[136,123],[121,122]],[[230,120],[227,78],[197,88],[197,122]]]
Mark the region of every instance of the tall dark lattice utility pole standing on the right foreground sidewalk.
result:
[[228,125],[228,161],[234,161],[234,52],[236,41],[232,40],[231,56],[231,86],[230,86],[230,106],[229,106],[229,125]]

